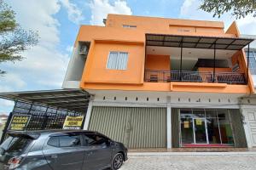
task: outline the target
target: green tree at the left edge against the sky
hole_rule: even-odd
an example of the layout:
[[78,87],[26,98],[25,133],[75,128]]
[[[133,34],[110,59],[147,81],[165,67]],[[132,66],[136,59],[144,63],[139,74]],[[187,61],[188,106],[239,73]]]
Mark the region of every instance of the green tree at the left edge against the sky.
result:
[[[0,0],[0,63],[20,61],[21,52],[38,43],[38,32],[24,30],[15,20],[15,11]],[[0,69],[0,75],[5,71]]]

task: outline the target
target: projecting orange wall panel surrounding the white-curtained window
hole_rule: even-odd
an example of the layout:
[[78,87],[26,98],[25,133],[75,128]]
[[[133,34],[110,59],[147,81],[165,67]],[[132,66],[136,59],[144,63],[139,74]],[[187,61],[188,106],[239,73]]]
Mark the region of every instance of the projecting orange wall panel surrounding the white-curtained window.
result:
[[[125,71],[107,68],[110,51],[128,52],[128,64]],[[144,65],[143,44],[121,44],[95,42],[90,52],[82,77],[83,83],[142,83]]]

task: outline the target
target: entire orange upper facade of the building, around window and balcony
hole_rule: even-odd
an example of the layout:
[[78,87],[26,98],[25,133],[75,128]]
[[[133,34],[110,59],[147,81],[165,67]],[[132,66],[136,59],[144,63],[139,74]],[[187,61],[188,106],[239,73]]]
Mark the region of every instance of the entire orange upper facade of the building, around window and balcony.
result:
[[[123,28],[122,25],[137,26]],[[170,28],[170,26],[172,28]],[[195,31],[194,30],[195,27]],[[189,28],[191,31],[179,31]],[[183,91],[213,93],[248,93],[246,85],[227,85],[218,83],[191,82],[143,82],[144,66],[170,70],[170,59],[166,56],[148,55],[145,60],[145,33],[176,34],[207,37],[238,37],[236,24],[224,33],[224,23],[202,20],[177,20],[155,17],[137,17],[108,14],[106,26],[81,26],[75,45],[79,41],[91,42],[90,51],[84,66],[80,87],[84,89],[117,89],[146,91]],[[129,53],[126,71],[106,68],[109,51],[127,51]],[[200,49],[199,49],[200,50]],[[245,68],[244,54],[241,54],[241,66]],[[169,57],[168,57],[169,58]],[[218,70],[218,69],[217,69]],[[244,70],[244,69],[243,69]],[[207,85],[208,84],[208,85]],[[209,86],[211,84],[211,86]],[[250,84],[252,86],[252,84]],[[220,88],[221,87],[221,88]],[[252,89],[251,89],[252,90]]]

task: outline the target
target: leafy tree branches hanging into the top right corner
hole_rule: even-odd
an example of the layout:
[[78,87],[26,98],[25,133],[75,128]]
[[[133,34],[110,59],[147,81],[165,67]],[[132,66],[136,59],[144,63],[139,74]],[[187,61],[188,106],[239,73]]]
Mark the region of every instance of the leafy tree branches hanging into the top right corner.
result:
[[229,11],[236,19],[244,18],[248,14],[256,17],[256,0],[203,0],[200,8],[218,18]]

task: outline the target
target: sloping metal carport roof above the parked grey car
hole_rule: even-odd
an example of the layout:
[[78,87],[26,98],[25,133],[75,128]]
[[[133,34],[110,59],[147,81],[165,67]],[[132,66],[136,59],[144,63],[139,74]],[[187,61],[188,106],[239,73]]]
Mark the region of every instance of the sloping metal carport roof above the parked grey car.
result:
[[58,89],[0,93],[0,98],[84,112],[88,107],[90,94],[82,89]]

